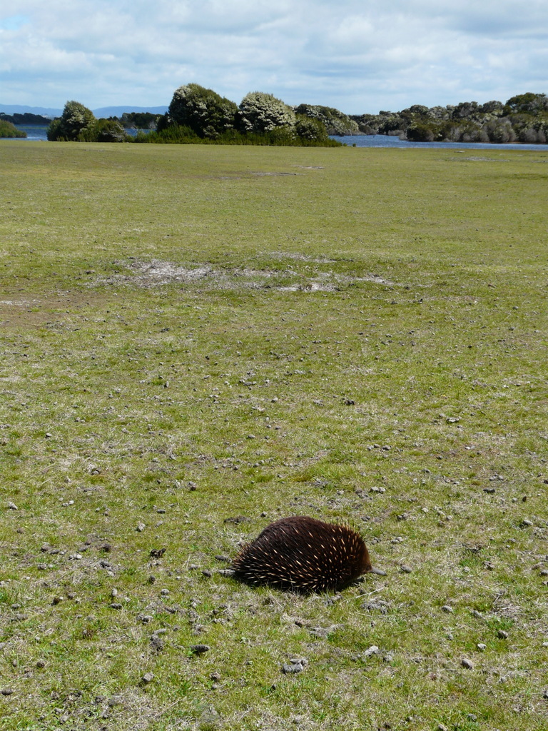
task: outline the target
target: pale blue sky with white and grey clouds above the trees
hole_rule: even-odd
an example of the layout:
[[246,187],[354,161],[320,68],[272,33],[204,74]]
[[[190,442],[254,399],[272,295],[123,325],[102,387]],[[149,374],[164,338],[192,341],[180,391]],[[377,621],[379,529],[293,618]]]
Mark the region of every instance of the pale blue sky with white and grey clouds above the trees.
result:
[[169,105],[187,83],[348,114],[548,93],[548,1],[10,0],[0,104]]

